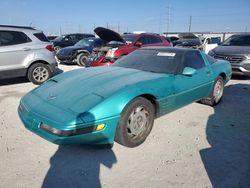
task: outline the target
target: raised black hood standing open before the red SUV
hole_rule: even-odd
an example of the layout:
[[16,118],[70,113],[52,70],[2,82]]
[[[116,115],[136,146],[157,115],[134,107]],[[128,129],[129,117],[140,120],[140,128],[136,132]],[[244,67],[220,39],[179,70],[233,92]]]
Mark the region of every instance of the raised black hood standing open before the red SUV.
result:
[[126,41],[121,37],[119,33],[116,33],[110,29],[103,28],[103,27],[97,27],[94,29],[94,32],[104,41],[110,42],[110,41],[119,41],[126,43]]

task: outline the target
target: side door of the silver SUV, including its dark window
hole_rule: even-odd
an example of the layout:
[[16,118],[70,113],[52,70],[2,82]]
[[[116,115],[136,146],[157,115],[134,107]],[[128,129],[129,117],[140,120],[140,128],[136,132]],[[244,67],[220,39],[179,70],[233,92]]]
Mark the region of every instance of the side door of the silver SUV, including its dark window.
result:
[[0,31],[0,70],[22,68],[30,53],[31,39],[20,31]]

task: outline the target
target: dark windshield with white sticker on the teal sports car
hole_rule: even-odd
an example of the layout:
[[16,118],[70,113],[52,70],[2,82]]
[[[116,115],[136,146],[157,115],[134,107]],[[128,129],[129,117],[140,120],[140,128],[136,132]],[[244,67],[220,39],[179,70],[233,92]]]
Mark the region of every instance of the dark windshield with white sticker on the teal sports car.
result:
[[117,60],[113,66],[175,74],[182,57],[180,51],[141,49]]

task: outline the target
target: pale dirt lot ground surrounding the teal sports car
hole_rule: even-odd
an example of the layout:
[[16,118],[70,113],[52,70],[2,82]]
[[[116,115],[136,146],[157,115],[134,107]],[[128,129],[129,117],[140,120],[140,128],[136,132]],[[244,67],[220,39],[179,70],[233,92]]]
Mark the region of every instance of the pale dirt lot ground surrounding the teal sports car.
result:
[[250,187],[249,79],[232,79],[216,108],[188,105],[157,119],[141,146],[112,150],[57,146],[26,130],[17,107],[35,87],[0,81],[1,188]]

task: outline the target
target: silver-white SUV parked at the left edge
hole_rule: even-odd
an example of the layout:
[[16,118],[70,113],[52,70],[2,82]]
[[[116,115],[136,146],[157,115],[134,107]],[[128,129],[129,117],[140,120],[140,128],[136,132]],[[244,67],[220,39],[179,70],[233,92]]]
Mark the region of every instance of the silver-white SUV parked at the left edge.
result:
[[41,84],[56,67],[53,45],[42,31],[0,25],[0,79],[26,76]]

